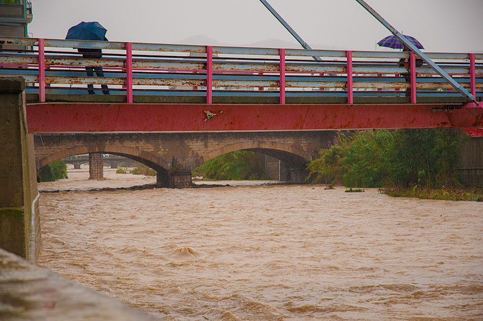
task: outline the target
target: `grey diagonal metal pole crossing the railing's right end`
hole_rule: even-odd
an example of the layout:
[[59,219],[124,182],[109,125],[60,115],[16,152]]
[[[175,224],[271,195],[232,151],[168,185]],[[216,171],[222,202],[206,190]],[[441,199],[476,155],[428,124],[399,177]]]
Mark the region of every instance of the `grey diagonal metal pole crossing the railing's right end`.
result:
[[[262,0],[260,0],[262,1]],[[443,77],[451,86],[455,87],[457,91],[459,91],[463,96],[465,96],[468,100],[478,104],[476,101],[475,96],[470,94],[466,89],[463,88],[461,84],[459,84],[455,79],[451,78],[444,70],[442,70],[438,65],[436,65],[429,57],[422,53],[421,50],[416,48],[403,34],[397,31],[393,26],[391,26],[380,14],[378,14],[374,9],[372,9],[364,0],[355,0],[359,3],[359,5],[363,6],[370,14],[374,16],[380,23],[382,23],[393,35],[396,36],[399,40],[403,42],[412,52],[417,54],[425,63],[431,66],[431,68],[436,71],[438,75]]]

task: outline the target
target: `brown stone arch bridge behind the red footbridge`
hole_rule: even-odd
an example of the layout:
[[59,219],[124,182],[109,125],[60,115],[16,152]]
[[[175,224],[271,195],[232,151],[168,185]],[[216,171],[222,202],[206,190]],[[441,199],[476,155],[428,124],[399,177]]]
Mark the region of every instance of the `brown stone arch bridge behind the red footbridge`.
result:
[[303,183],[306,165],[321,148],[337,142],[335,131],[196,132],[36,135],[38,168],[65,157],[106,153],[127,157],[157,171],[157,183],[190,187],[191,170],[239,150],[275,157],[289,169],[288,181]]

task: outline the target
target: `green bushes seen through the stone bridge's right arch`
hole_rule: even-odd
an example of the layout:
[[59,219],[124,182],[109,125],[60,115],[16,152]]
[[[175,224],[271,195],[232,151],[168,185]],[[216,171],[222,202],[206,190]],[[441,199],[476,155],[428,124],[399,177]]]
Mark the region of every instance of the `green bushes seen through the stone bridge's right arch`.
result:
[[236,151],[209,160],[192,171],[208,180],[266,180],[263,155]]

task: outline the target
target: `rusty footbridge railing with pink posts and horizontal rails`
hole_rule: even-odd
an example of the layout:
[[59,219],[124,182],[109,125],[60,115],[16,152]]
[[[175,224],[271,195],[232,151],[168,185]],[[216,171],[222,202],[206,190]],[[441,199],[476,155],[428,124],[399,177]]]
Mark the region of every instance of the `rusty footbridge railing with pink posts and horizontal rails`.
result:
[[[50,94],[86,94],[89,84],[108,85],[111,95],[124,95],[128,103],[142,95],[205,96],[206,103],[217,96],[278,97],[280,103],[286,97],[342,97],[349,104],[354,97],[409,93],[411,103],[416,97],[460,96],[429,66],[406,63],[413,56],[407,52],[11,37],[0,37],[0,45],[0,75],[23,76],[27,92],[38,93],[41,102]],[[102,49],[103,55],[85,57],[77,48]],[[483,54],[426,54],[471,94],[483,96]],[[98,70],[91,76],[86,67]]]

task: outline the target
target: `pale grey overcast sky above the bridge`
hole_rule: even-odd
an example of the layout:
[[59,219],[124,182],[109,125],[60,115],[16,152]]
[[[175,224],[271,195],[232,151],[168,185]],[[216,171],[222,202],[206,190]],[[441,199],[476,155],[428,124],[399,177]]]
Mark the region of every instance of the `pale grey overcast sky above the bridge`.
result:
[[[355,0],[268,0],[314,49],[375,50],[389,35]],[[483,0],[367,0],[427,52],[482,52]],[[64,39],[99,21],[111,41],[299,48],[259,0],[32,0],[28,32]],[[392,50],[382,49],[378,50]]]

